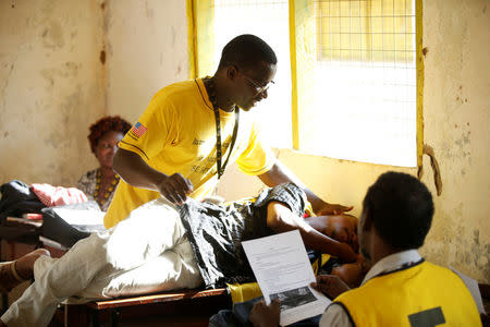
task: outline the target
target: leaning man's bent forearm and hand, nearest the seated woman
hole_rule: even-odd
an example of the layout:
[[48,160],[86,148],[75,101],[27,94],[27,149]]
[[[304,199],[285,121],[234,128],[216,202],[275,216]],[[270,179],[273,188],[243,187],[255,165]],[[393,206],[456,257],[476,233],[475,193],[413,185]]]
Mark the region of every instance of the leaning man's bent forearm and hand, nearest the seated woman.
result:
[[167,175],[158,171],[137,154],[119,148],[114,155],[112,169],[130,185],[160,192],[174,204],[182,204],[193,191],[189,180],[180,173]]

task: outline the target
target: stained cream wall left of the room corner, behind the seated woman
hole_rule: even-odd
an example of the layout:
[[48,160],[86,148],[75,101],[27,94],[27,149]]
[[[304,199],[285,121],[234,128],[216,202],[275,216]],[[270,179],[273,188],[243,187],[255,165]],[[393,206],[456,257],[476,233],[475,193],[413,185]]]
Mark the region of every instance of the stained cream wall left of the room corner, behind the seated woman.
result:
[[103,116],[97,1],[0,1],[0,183],[73,185]]

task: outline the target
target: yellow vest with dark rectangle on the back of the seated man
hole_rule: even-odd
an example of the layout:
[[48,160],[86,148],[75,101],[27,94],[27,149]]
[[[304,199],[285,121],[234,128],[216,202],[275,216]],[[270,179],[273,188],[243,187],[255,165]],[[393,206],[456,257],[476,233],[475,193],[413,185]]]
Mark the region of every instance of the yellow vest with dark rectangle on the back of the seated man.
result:
[[334,302],[355,326],[481,326],[460,277],[427,262],[375,277]]

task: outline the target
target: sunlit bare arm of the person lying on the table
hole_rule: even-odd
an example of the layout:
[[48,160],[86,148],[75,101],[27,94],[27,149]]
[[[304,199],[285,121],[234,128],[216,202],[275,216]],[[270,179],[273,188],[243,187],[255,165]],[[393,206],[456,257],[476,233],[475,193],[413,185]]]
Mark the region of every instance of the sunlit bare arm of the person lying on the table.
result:
[[346,263],[356,261],[356,254],[351,246],[315,230],[302,217],[294,215],[286,205],[280,202],[269,203],[267,226],[278,233],[297,229],[307,249],[334,255]]

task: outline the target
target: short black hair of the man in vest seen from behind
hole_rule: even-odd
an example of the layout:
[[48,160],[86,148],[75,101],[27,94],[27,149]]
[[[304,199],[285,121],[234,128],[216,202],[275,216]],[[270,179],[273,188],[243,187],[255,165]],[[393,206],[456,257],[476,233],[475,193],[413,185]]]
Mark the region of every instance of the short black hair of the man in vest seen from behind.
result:
[[369,187],[363,209],[388,244],[399,250],[418,249],[432,222],[432,195],[413,175],[390,171]]

